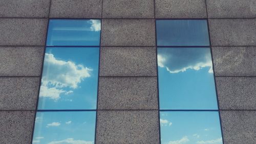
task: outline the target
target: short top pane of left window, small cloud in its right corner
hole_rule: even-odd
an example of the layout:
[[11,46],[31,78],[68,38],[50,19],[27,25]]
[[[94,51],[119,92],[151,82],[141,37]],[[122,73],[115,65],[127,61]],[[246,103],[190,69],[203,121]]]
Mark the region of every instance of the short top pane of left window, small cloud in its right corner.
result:
[[51,19],[47,46],[99,45],[100,20]]

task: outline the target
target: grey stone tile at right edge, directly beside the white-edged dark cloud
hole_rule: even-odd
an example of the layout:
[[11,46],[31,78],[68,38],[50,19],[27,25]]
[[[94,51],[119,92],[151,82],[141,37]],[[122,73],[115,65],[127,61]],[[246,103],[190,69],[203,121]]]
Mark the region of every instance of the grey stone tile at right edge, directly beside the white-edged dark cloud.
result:
[[212,46],[215,76],[256,76],[256,46]]

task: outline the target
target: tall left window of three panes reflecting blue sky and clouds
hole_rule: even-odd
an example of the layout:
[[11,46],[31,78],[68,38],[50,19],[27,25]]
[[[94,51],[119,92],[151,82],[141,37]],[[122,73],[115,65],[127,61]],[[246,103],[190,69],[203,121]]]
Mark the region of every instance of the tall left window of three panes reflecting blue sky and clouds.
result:
[[51,19],[32,143],[93,143],[100,20]]

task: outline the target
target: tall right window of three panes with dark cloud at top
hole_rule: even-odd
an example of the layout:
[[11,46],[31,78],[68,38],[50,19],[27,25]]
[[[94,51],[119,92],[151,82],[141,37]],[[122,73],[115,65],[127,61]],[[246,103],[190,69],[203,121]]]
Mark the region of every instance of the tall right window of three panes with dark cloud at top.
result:
[[207,21],[156,28],[161,143],[222,143]]

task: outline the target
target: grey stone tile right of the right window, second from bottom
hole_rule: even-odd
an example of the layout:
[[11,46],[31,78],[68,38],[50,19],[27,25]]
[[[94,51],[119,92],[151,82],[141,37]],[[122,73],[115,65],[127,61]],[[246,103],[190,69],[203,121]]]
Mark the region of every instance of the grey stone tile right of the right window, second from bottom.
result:
[[216,77],[220,109],[256,109],[256,77]]

